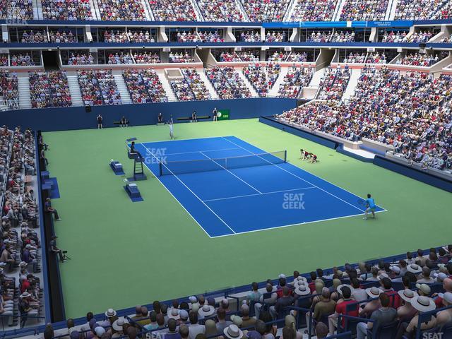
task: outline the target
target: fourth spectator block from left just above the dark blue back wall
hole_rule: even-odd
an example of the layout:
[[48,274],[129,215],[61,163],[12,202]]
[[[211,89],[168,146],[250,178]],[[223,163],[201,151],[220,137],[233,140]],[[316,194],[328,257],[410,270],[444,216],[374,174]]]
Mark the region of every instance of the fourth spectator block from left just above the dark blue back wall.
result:
[[127,69],[122,76],[134,104],[168,101],[155,69]]

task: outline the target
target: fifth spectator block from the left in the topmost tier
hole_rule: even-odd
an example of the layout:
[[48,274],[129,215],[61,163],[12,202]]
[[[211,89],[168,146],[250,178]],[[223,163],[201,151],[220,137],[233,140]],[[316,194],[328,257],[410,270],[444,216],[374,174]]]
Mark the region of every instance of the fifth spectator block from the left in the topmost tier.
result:
[[213,22],[237,22],[244,17],[235,0],[196,0],[204,20]]

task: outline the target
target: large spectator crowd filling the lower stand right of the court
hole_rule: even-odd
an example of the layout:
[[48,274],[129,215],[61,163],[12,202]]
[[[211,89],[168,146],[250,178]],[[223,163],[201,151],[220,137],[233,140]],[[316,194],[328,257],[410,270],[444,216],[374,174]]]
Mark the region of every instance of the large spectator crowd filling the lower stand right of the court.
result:
[[370,138],[423,167],[452,165],[452,78],[366,67],[350,102],[314,102],[284,119],[351,141]]

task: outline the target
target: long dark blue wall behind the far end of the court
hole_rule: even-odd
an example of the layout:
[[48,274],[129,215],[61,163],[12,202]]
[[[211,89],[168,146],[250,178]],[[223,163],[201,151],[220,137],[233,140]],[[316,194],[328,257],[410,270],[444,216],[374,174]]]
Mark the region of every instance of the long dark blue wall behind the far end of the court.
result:
[[1,124],[8,126],[30,127],[41,131],[64,131],[71,129],[97,128],[96,117],[101,114],[104,127],[114,126],[124,115],[130,120],[131,126],[151,125],[157,123],[157,114],[162,112],[164,121],[173,117],[190,117],[196,110],[198,117],[211,115],[214,107],[229,109],[230,119],[256,118],[269,116],[297,106],[297,100],[256,97],[234,100],[208,100],[189,102],[159,102],[140,105],[109,105],[93,106],[91,112],[85,112],[85,107],[49,108],[49,109],[18,109],[0,113]]

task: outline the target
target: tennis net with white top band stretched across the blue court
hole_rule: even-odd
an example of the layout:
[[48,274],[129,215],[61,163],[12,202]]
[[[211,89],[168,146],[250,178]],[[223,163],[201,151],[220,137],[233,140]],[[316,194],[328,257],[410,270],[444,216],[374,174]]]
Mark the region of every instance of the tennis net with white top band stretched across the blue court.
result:
[[223,157],[219,159],[200,159],[160,162],[160,175],[186,174],[196,172],[220,171],[225,169],[276,165],[286,162],[287,151]]

